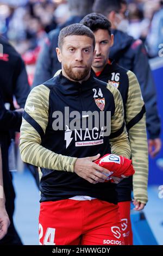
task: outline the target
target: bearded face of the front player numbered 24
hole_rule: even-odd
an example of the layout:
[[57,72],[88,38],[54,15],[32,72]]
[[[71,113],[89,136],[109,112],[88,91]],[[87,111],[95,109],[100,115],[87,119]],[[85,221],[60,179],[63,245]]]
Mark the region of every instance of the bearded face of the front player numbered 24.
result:
[[85,35],[68,35],[64,38],[61,50],[57,50],[58,60],[62,63],[62,74],[73,81],[82,81],[90,74],[93,40]]

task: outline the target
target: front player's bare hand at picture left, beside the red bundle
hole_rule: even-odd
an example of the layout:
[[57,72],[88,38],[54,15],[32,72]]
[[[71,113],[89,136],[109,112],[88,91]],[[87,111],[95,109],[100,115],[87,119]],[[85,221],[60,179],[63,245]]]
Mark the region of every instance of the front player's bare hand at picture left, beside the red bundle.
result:
[[[74,172],[92,184],[104,182],[108,178],[108,175],[111,175],[111,172],[93,163],[93,161],[99,159],[99,157],[100,154],[77,159],[74,165]],[[106,175],[104,173],[106,173]]]

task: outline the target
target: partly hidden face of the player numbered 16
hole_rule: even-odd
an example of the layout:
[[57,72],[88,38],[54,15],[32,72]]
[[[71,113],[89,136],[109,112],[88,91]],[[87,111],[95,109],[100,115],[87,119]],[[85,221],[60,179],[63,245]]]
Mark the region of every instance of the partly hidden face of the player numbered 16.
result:
[[92,68],[101,69],[108,63],[109,50],[114,39],[113,35],[110,36],[106,29],[98,29],[98,31],[94,32],[94,35],[96,39],[96,54],[92,63]]

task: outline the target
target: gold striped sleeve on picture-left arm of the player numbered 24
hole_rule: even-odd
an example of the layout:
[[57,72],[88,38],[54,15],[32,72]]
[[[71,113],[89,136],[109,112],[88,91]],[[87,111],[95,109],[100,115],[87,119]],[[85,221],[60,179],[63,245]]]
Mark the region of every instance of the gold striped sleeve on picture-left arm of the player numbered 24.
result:
[[21,158],[37,167],[73,172],[76,157],[56,154],[41,145],[48,124],[49,92],[41,84],[28,95],[21,125]]

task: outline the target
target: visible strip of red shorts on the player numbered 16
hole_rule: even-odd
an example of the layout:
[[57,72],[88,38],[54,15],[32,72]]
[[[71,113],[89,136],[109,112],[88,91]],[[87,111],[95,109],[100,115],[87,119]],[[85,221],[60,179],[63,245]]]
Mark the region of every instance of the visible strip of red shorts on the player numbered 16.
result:
[[118,203],[122,223],[124,245],[133,245],[133,232],[131,229],[130,220],[130,204],[130,201]]

